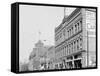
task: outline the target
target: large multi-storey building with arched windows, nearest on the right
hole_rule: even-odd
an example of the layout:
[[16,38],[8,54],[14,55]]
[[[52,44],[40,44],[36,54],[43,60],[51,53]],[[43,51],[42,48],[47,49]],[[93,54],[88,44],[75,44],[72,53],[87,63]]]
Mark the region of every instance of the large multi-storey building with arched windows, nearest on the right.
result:
[[84,68],[96,63],[96,10],[76,8],[55,28],[55,68]]

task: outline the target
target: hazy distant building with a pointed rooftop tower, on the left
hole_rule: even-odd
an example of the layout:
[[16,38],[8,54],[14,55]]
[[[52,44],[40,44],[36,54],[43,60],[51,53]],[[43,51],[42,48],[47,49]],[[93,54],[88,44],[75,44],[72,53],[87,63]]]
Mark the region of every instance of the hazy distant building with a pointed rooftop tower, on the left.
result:
[[46,69],[47,51],[50,46],[44,46],[41,40],[35,44],[35,48],[29,56],[29,70]]

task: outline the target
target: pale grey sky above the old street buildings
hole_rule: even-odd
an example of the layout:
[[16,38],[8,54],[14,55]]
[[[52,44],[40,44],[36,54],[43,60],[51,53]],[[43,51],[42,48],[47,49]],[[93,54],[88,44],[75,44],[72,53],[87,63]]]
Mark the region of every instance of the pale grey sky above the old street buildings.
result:
[[[66,12],[68,15],[73,9]],[[20,5],[19,8],[19,60],[27,62],[38,40],[54,45],[54,29],[64,18],[64,7]],[[39,34],[40,32],[40,34]],[[46,40],[44,42],[44,40]]]

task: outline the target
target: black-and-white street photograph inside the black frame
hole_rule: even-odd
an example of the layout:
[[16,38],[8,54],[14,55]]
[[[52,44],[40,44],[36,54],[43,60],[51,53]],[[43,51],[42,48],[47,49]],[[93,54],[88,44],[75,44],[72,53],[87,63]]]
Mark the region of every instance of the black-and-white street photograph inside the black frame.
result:
[[19,71],[96,67],[96,9],[19,5]]

